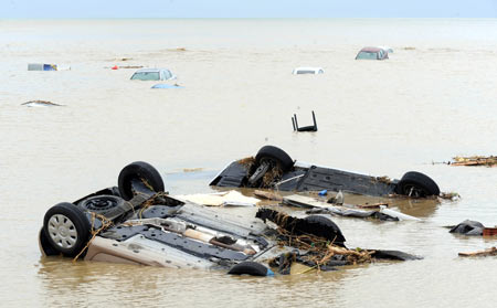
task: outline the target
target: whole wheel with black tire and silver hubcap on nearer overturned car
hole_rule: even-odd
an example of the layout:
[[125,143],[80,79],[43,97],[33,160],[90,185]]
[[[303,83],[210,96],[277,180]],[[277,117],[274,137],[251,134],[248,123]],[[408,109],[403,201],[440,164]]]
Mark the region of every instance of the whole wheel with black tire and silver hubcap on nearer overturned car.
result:
[[[65,216],[65,219],[62,220],[62,216]],[[54,220],[61,224],[64,223],[63,229],[53,224]],[[67,225],[71,225],[71,227],[66,227]],[[76,256],[83,249],[89,240],[91,229],[92,226],[85,213],[73,203],[63,202],[55,204],[46,211],[43,219],[43,232],[50,245],[68,257]],[[67,240],[60,238],[60,235],[65,235],[70,231],[75,231],[75,235],[64,236],[64,238],[71,237]]]

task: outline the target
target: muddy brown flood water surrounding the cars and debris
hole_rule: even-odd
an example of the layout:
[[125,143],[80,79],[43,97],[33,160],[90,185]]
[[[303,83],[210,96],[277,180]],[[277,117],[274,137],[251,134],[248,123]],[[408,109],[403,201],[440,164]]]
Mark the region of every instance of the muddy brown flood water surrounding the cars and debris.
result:
[[[394,53],[355,61],[366,45]],[[497,237],[443,226],[497,224],[497,169],[432,162],[497,153],[497,20],[0,20],[0,54],[1,306],[495,307],[497,258],[457,253]],[[168,67],[184,88],[150,89],[114,65]],[[21,106],[33,99],[64,106]],[[311,110],[319,130],[293,132],[293,114],[310,125]],[[45,211],[115,185],[127,163],[154,164],[171,194],[210,192],[264,145],[364,174],[421,171],[462,199],[384,200],[421,222],[334,217],[349,247],[415,262],[254,278],[41,257]]]

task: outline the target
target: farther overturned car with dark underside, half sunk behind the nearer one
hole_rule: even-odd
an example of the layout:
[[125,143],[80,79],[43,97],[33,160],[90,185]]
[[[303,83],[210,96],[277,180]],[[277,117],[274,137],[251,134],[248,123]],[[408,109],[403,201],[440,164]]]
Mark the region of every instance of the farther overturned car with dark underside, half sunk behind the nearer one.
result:
[[282,191],[343,191],[358,194],[412,198],[438,195],[438,185],[430,177],[406,172],[400,180],[371,177],[294,161],[284,150],[264,146],[255,158],[230,163],[210,183],[214,187],[268,188]]

